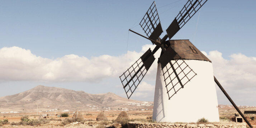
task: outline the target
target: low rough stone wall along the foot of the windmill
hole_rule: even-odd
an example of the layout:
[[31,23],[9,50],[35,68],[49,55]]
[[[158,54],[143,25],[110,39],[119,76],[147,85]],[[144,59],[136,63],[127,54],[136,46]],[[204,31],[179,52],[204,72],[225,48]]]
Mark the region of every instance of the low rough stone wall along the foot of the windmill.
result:
[[135,123],[129,122],[128,128],[246,128],[245,123],[236,124],[176,124],[176,123]]

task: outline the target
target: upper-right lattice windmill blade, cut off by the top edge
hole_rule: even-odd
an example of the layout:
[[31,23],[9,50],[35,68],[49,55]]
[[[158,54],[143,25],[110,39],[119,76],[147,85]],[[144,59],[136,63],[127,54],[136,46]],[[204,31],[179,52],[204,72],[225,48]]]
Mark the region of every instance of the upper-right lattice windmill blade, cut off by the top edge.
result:
[[189,21],[206,1],[207,0],[188,0],[170,26],[166,29],[170,39]]

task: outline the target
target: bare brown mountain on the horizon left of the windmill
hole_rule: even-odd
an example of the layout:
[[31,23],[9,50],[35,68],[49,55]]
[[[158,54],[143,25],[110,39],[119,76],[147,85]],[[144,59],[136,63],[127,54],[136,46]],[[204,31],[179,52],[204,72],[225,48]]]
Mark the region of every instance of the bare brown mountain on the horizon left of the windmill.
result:
[[[89,94],[57,87],[36,86],[15,95],[0,98],[0,109],[29,110],[60,109],[101,109],[102,107],[141,109],[152,106],[152,102],[143,102],[120,97],[114,93]],[[150,107],[151,108],[151,107]]]

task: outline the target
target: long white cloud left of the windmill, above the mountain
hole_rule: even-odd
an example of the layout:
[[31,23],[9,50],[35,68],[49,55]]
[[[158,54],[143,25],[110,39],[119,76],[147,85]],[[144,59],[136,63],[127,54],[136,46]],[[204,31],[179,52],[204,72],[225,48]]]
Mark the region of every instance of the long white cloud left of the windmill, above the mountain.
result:
[[16,46],[4,47],[0,49],[0,80],[96,82],[104,78],[118,77],[149,47],[154,48],[153,45],[144,45],[140,52],[128,51],[127,55],[101,55],[91,59],[74,54],[48,59]]

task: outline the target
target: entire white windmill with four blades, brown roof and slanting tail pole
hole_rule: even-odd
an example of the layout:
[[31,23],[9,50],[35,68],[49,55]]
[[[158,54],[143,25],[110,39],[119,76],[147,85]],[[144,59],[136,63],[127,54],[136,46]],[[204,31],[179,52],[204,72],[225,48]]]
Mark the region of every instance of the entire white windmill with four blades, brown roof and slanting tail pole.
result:
[[156,46],[153,50],[148,49],[119,78],[129,99],[155,61],[154,54],[161,48],[157,61],[154,120],[196,122],[204,117],[210,122],[218,122],[215,82],[251,127],[214,77],[211,61],[189,40],[171,40],[206,2],[207,0],[188,0],[166,29],[167,34],[160,38],[163,30],[154,1],[139,23],[147,37],[131,29],[129,31],[150,40]]

